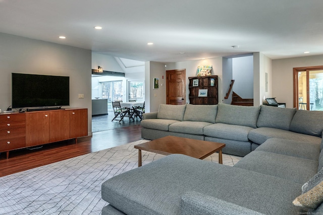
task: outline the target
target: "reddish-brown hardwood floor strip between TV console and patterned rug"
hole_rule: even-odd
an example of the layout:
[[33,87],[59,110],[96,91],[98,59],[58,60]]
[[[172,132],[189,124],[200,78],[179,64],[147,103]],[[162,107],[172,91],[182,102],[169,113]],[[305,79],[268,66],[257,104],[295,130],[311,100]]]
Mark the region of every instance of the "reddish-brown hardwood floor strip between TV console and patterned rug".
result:
[[6,153],[2,153],[0,177],[137,141],[142,139],[139,124],[140,121],[131,126],[125,124],[126,127],[94,132],[92,136],[78,138],[77,144],[75,140],[66,140],[43,145],[40,149],[11,151],[9,159],[6,159]]

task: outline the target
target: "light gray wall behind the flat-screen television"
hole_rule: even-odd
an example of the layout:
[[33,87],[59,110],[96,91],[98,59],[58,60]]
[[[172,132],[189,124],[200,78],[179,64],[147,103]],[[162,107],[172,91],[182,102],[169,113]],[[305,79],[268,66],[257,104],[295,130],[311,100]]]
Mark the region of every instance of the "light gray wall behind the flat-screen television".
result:
[[69,107],[88,109],[91,135],[91,51],[3,33],[0,44],[0,108],[11,105],[11,73],[69,76]]

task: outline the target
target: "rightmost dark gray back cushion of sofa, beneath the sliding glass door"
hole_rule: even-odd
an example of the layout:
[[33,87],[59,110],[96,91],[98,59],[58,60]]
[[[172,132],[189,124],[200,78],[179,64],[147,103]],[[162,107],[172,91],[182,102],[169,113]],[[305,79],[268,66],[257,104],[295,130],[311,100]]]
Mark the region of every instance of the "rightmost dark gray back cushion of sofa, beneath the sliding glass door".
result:
[[293,117],[289,129],[297,133],[320,137],[323,131],[323,112],[298,110]]

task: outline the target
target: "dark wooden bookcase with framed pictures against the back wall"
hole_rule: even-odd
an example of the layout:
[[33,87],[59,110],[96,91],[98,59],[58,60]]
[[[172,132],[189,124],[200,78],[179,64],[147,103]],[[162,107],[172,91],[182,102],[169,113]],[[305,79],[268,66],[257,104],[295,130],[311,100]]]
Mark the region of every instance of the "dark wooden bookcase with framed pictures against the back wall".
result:
[[216,105],[219,103],[218,76],[189,77],[188,80],[190,104]]

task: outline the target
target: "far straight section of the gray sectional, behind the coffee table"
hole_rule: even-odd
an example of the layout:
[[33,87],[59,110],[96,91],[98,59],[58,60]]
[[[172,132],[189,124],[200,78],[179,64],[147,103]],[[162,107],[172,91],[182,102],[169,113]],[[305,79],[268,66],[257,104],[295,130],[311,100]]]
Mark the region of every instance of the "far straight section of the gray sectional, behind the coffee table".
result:
[[[320,111],[219,105],[165,105],[146,113],[141,137],[167,135],[223,142],[223,153],[245,156],[268,138],[302,140],[319,144],[323,129]],[[320,121],[321,120],[321,121]]]

